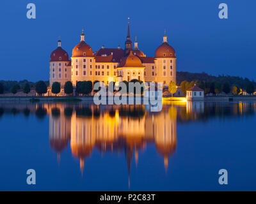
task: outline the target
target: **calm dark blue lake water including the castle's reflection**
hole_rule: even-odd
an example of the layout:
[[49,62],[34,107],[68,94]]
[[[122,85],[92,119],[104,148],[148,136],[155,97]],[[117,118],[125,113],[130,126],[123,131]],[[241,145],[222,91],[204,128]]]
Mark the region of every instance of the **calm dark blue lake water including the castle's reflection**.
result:
[[161,112],[0,103],[0,190],[255,191],[255,112],[248,102],[172,102]]

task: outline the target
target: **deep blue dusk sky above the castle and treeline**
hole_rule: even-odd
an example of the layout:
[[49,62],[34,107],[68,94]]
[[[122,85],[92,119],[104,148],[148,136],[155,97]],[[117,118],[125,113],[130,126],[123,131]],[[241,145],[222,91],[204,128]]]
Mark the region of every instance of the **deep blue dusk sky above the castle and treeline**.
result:
[[[15,3],[14,3],[15,2]],[[26,5],[36,4],[36,19],[26,18]],[[228,4],[228,19],[218,5]],[[97,51],[101,45],[124,48],[127,17],[131,37],[147,56],[163,40],[177,54],[177,71],[234,75],[256,80],[255,1],[1,1],[0,80],[49,79],[49,56],[61,36],[72,54],[81,29]]]

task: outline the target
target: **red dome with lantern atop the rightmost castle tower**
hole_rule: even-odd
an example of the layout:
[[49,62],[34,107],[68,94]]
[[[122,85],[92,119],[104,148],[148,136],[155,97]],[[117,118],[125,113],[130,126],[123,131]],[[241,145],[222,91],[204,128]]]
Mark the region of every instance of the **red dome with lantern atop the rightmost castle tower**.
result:
[[155,57],[175,57],[175,50],[167,43],[167,36],[164,31],[163,44],[157,47]]

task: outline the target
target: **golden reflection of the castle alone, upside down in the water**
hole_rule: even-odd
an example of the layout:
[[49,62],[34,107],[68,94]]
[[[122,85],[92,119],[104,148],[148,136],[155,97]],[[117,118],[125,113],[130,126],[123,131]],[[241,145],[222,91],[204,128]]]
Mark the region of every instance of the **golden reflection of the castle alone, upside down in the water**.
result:
[[58,154],[68,146],[79,158],[83,172],[84,159],[94,148],[104,152],[124,150],[128,170],[132,155],[138,163],[138,152],[154,143],[168,167],[168,157],[177,145],[176,109],[164,106],[161,112],[147,112],[142,105],[65,105],[43,104],[49,114],[50,145]]

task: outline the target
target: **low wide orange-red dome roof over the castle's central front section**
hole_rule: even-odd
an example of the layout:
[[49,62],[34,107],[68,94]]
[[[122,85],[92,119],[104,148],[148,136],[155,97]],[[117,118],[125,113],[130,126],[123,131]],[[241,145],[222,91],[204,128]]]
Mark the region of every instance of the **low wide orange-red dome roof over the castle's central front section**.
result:
[[129,55],[123,57],[118,64],[118,68],[144,68],[140,58],[132,53],[131,50]]

